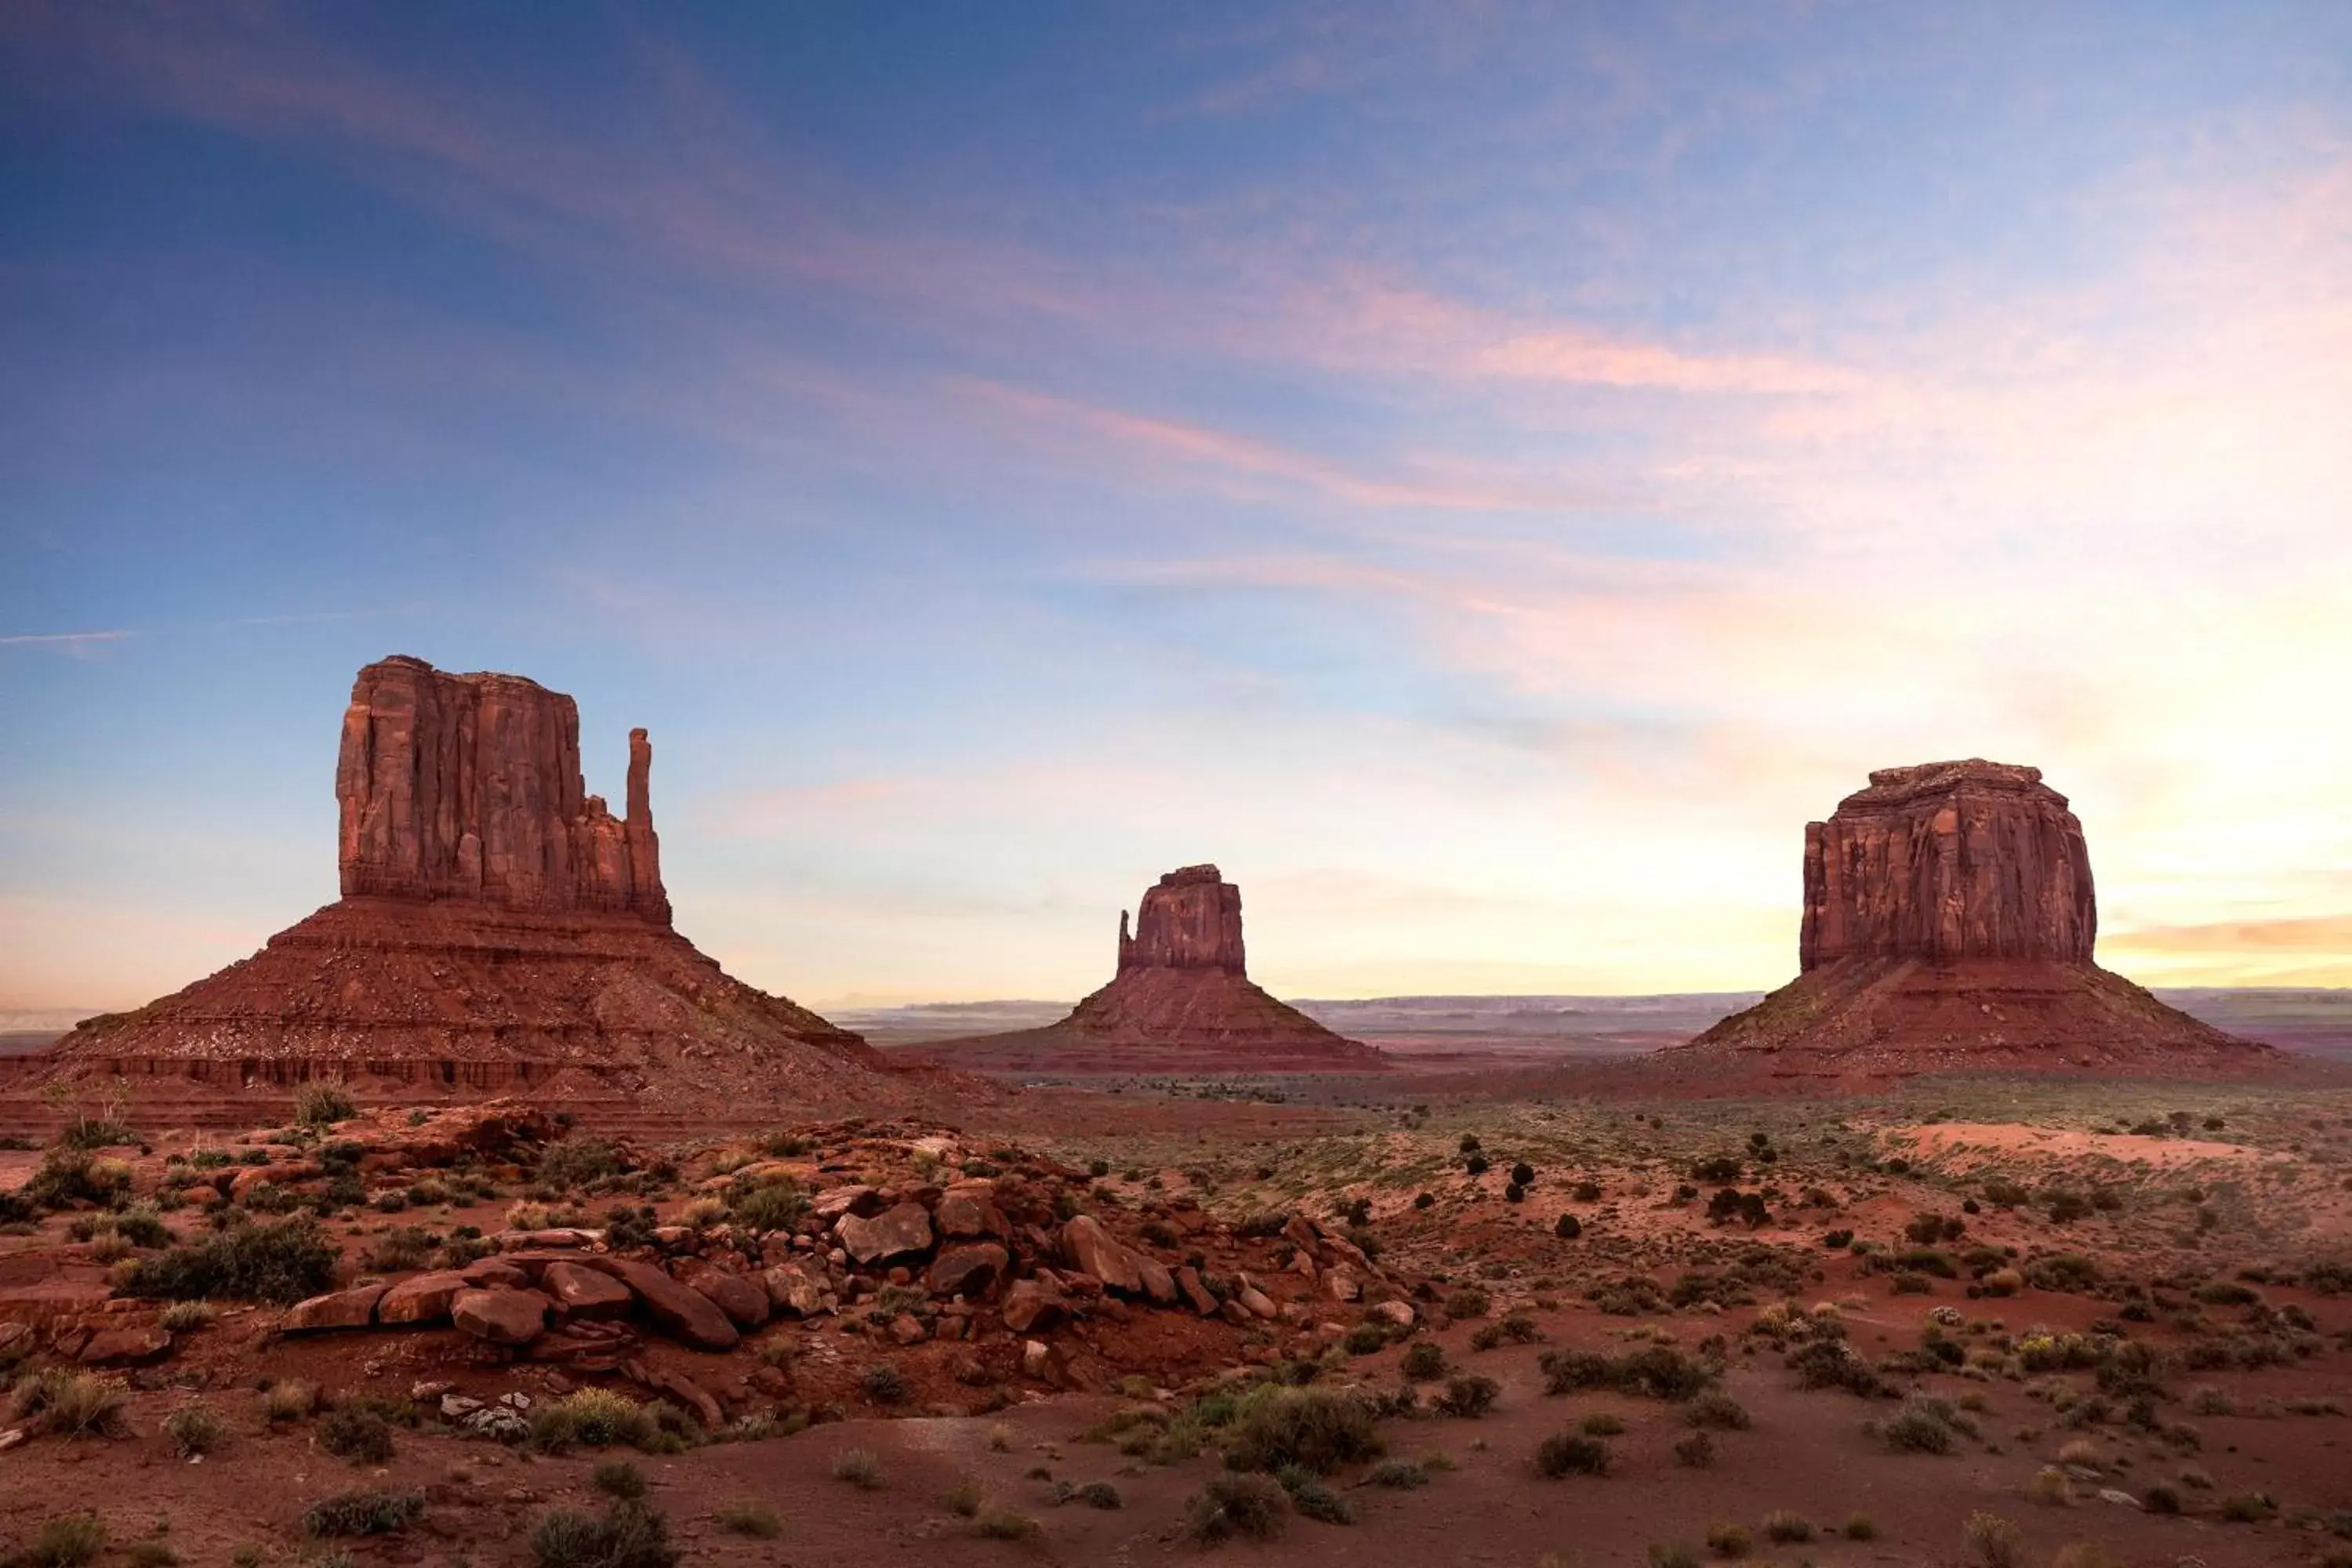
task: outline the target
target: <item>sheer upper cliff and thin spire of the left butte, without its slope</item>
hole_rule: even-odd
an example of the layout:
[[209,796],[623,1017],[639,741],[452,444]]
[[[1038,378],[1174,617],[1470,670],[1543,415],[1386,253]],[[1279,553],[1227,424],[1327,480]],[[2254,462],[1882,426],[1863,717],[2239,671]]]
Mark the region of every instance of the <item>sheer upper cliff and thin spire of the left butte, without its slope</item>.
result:
[[334,771],[343,896],[670,924],[652,741],[628,736],[628,816],[581,778],[579,708],[520,675],[393,656],[360,670]]

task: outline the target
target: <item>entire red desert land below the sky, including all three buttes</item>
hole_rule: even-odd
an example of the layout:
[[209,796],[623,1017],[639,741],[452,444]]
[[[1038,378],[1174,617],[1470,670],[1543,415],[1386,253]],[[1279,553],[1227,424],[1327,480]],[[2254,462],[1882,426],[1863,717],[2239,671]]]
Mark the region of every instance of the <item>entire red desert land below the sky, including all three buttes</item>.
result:
[[649,757],[369,665],[343,900],[9,1058],[16,1559],[2352,1561],[2352,1072],[2100,971],[2032,769],[1809,827],[1764,999],[1350,1039],[1202,865],[877,1046],[675,933]]

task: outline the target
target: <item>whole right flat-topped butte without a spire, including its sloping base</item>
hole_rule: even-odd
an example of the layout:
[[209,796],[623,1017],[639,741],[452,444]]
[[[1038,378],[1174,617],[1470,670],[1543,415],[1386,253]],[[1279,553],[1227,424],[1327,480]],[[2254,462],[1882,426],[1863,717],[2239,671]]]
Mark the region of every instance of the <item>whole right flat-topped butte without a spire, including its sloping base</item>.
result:
[[1675,1046],[1780,1074],[2117,1067],[2270,1056],[2091,959],[2091,853],[2042,769],[1879,769],[1804,830],[1799,973]]

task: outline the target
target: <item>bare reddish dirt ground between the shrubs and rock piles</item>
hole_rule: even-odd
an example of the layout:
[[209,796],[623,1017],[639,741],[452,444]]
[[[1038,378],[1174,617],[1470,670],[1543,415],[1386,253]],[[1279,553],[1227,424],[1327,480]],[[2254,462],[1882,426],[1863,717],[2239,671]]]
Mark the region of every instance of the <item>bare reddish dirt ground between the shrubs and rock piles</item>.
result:
[[[901,1347],[851,1333],[847,1312],[779,1319],[729,1354],[649,1345],[720,1392],[727,1422],[640,1453],[501,1443],[435,1415],[442,1392],[541,1406],[581,1385],[628,1387],[614,1378],[487,1354],[454,1328],[292,1338],[275,1307],[219,1302],[167,1359],[96,1373],[122,1385],[120,1436],[31,1432],[0,1450],[0,1556],[94,1509],[108,1547],[92,1561],[106,1563],[560,1568],[581,1559],[534,1552],[534,1528],[550,1509],[600,1512],[593,1472],[626,1458],[687,1563],[1604,1568],[1733,1561],[1733,1526],[1740,1561],[1785,1568],[2352,1561],[2352,1095],[2338,1088],[2006,1079],[1842,1100],[1324,1105],[1174,1088],[1009,1095],[957,1138],[1098,1171],[1077,1190],[1105,1215],[1188,1201],[1232,1234],[1270,1213],[1334,1232],[1359,1220],[1348,1234],[1371,1237],[1416,1286],[1411,1333],[1343,1342],[1371,1314],[1296,1291],[1294,1316],[1244,1328],[1105,1307],[1056,1338],[1058,1356],[1091,1368],[1073,1380],[1025,1375],[1002,1331]],[[181,1147],[167,1128],[141,1135],[148,1154],[118,1150],[141,1168]],[[677,1135],[659,1152],[677,1166],[654,1201],[668,1222],[746,1147]],[[40,1159],[0,1154],[0,1190]],[[426,1213],[346,1208],[329,1229],[348,1258],[400,1225],[496,1232],[529,1173],[503,1185],[499,1201]],[[71,1239],[75,1218],[92,1215],[0,1234],[0,1333],[38,1316],[45,1291],[106,1295],[108,1265]],[[191,1229],[186,1213],[165,1218]],[[1922,1241],[1929,1225],[1940,1229]],[[1835,1335],[1875,1387],[1804,1387],[1792,1356],[1806,1335]],[[1423,1345],[1446,1373],[1409,1382],[1404,1356]],[[1700,1429],[1691,1401],[1545,1392],[1555,1352],[1656,1347],[1710,1368],[1743,1413],[1708,1432],[1708,1465],[1677,1458]],[[858,1394],[880,1359],[915,1389],[889,1410]],[[957,1359],[981,1361],[985,1380],[955,1375]],[[54,1363],[35,1352],[14,1371]],[[781,1378],[760,1382],[762,1366]],[[1188,1509],[1223,1469],[1218,1436],[1181,1458],[1122,1446],[1110,1427],[1155,1432],[1204,1394],[1275,1375],[1381,1394],[1385,1453],[1442,1458],[1411,1488],[1369,1483],[1369,1458],[1338,1465],[1327,1486],[1352,1523],[1284,1507],[1268,1540],[1202,1544]],[[1491,1410],[1432,1413],[1456,1375],[1491,1378]],[[325,1415],[266,1418],[261,1385],[285,1380],[320,1387],[327,1406],[414,1406],[416,1425],[393,1427],[388,1462],[346,1462],[320,1446]],[[416,1399],[419,1385],[447,1389]],[[1397,1408],[1404,1387],[1418,1389],[1414,1413]],[[1945,1453],[1886,1436],[1919,1399],[1945,1401]],[[198,1460],[165,1432],[193,1401],[226,1429]],[[1606,1474],[1541,1476],[1538,1446],[1588,1420]],[[837,1479],[851,1450],[870,1455],[870,1486]],[[1115,1488],[1117,1507],[1073,1495],[1087,1483]],[[350,1488],[412,1493],[421,1516],[381,1535],[306,1535],[303,1512]],[[1769,1535],[1776,1514],[1788,1540]],[[1978,1514],[2009,1521],[2013,1542],[1994,1526],[1971,1535]],[[1856,1516],[1867,1537],[1844,1533]],[[983,1521],[1016,1537],[988,1537]]]

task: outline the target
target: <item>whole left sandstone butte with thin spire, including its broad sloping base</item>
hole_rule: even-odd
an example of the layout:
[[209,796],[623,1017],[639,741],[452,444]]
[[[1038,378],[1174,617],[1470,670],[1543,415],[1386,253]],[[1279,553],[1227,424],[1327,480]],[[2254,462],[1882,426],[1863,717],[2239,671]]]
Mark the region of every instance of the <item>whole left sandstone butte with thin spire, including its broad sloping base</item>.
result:
[[125,1077],[141,1103],[313,1077],[743,1114],[870,1095],[882,1060],[863,1039],[670,929],[652,759],[630,731],[616,818],[583,788],[569,696],[367,665],[334,773],[343,898],[172,997],[85,1020],[28,1074]]

